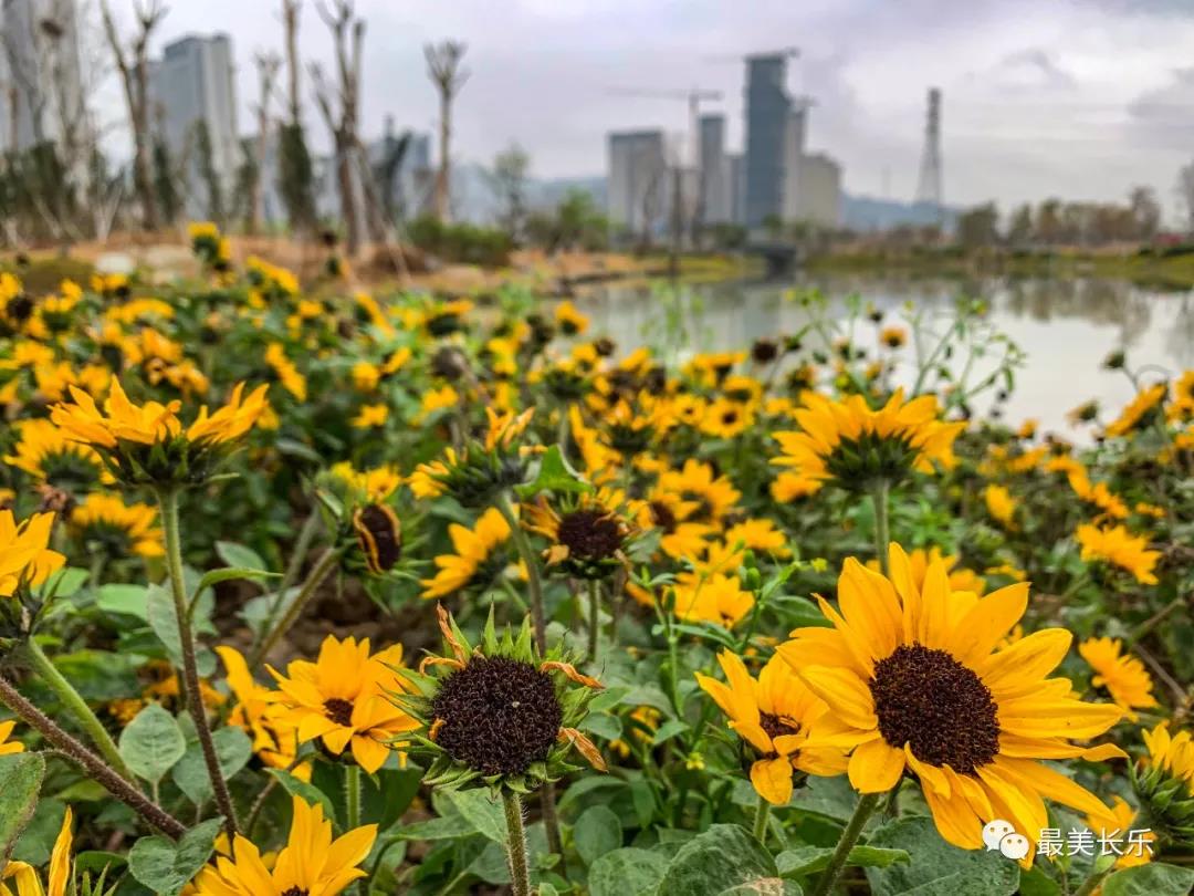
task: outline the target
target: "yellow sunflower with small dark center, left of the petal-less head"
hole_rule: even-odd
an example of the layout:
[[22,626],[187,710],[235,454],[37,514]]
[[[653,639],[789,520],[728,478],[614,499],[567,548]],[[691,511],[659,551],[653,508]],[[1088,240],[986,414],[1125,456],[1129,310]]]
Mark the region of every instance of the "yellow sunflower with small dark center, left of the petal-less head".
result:
[[418,725],[395,708],[386,693],[400,691],[402,680],[390,667],[401,665],[402,645],[369,653],[369,639],[324,639],[314,663],[295,659],[278,682],[277,700],[287,712],[281,717],[294,725],[298,743],[319,738],[339,756],[350,748],[352,757],[373,774],[389,755],[389,743]]

